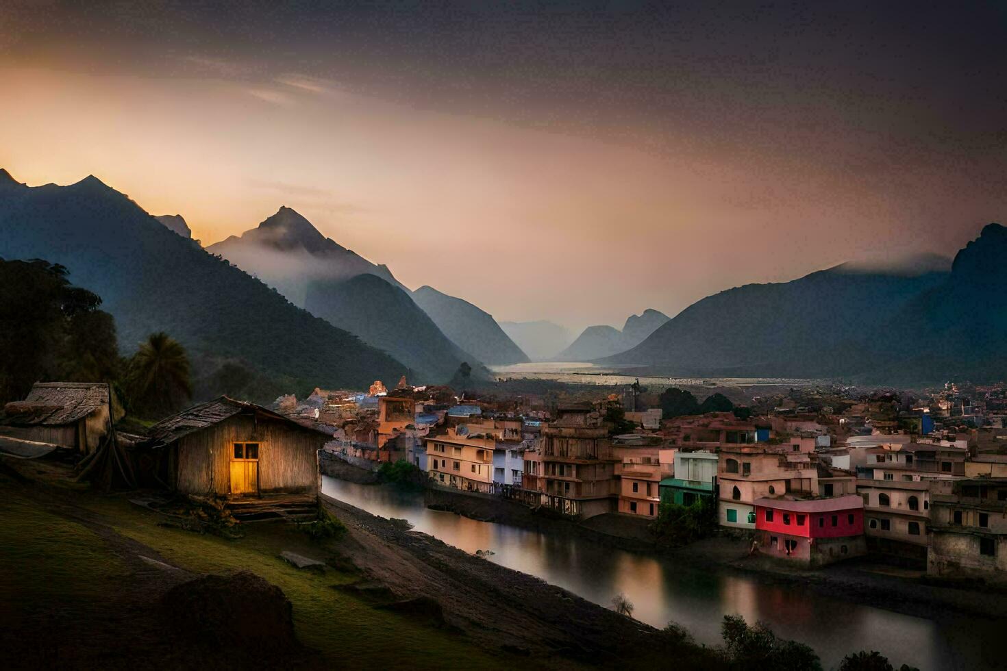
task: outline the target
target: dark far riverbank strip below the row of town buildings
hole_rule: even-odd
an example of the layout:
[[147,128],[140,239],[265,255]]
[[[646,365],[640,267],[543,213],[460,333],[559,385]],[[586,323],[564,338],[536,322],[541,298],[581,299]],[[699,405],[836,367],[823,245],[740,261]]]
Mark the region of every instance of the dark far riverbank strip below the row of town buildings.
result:
[[427,506],[470,519],[509,524],[556,535],[575,535],[608,547],[664,557],[694,566],[716,564],[758,576],[767,583],[796,585],[822,596],[867,604],[904,615],[940,620],[948,613],[980,618],[1007,618],[1007,594],[928,583],[924,571],[894,568],[869,557],[823,568],[804,569],[765,556],[749,556],[750,540],[718,533],[685,547],[660,547],[648,531],[649,521],[609,513],[575,522],[538,513],[502,499],[469,496],[442,489],[427,490]]

